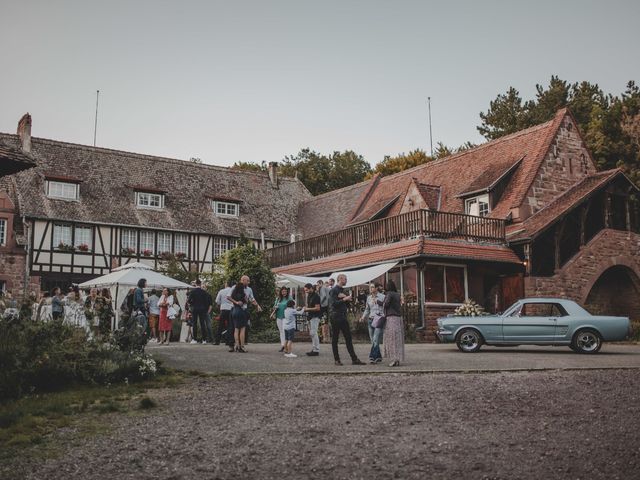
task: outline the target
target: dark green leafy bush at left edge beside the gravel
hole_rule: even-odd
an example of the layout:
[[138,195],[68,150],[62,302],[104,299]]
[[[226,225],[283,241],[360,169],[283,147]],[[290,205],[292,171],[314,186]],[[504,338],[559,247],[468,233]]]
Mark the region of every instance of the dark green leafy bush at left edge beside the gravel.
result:
[[71,384],[136,381],[156,374],[137,325],[91,339],[62,321],[0,319],[0,400]]

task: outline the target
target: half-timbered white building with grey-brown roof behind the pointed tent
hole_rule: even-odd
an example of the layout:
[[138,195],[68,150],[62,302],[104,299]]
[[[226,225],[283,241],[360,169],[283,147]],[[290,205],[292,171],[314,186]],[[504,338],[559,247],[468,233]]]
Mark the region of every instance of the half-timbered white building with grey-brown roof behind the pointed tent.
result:
[[32,138],[28,116],[17,134],[0,134],[3,152],[35,163],[0,178],[0,289],[20,293],[131,261],[155,267],[169,253],[210,271],[241,236],[258,248],[289,242],[311,197],[275,165],[252,173]]

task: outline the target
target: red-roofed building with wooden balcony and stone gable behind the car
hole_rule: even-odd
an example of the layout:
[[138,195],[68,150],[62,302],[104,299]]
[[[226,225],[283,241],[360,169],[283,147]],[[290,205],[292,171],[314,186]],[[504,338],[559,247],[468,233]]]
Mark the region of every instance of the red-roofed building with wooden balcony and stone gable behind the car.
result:
[[268,253],[276,272],[296,275],[399,262],[385,276],[430,333],[466,299],[499,311],[523,296],[562,296],[640,318],[637,200],[622,171],[596,171],[563,109],[542,125],[307,199],[298,241]]

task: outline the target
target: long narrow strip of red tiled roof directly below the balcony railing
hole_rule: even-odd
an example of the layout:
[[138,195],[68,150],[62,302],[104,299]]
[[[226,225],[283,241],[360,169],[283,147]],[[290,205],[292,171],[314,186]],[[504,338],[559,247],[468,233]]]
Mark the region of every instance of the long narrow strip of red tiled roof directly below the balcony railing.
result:
[[404,240],[384,245],[383,247],[366,248],[355,252],[332,255],[331,257],[312,260],[309,262],[278,267],[273,269],[273,271],[275,273],[288,273],[292,275],[310,275],[364,267],[375,263],[418,256],[427,258],[521,263],[518,256],[506,246],[420,238]]

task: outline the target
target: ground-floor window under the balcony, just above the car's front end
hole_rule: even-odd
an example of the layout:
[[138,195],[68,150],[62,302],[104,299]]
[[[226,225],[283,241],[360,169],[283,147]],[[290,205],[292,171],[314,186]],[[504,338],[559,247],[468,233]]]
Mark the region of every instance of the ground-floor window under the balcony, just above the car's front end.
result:
[[427,265],[425,298],[433,303],[462,303],[467,298],[467,270],[455,265]]

